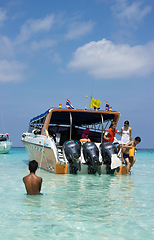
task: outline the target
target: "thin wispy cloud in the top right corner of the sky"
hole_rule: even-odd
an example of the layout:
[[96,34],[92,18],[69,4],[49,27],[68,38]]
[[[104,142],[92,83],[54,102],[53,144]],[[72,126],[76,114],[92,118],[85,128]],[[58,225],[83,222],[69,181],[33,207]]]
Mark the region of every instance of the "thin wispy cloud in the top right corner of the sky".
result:
[[152,6],[142,7],[141,1],[129,5],[128,0],[117,0],[111,9],[122,23],[137,23],[151,12]]

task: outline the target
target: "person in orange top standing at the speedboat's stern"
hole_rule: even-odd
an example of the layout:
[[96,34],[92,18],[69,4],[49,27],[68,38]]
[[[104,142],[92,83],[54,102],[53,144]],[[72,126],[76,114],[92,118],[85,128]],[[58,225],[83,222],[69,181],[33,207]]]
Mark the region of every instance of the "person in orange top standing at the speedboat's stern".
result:
[[110,128],[107,129],[105,134],[104,134],[105,141],[113,143],[116,133],[121,136],[121,132],[119,132],[116,129],[116,122],[112,122]]

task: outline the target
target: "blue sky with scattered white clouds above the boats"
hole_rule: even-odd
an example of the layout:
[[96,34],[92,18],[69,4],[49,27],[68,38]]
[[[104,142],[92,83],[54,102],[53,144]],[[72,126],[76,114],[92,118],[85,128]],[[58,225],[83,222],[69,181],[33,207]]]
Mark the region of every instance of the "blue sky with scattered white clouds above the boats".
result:
[[153,0],[0,0],[0,132],[13,146],[31,118],[90,97],[154,148]]

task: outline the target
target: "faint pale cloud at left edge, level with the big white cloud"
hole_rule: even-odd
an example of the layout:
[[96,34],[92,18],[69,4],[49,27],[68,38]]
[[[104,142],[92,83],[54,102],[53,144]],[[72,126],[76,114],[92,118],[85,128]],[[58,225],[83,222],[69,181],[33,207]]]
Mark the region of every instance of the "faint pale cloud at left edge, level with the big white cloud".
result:
[[0,82],[19,82],[24,80],[26,65],[19,61],[0,61]]

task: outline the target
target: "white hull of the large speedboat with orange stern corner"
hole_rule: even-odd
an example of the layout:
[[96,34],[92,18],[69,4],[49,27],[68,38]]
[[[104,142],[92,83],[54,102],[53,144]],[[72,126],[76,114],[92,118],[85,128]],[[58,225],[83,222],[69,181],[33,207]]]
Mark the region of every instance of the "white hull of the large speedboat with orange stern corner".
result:
[[[50,137],[29,136],[22,138],[22,142],[25,146],[26,152],[29,157],[29,161],[36,160],[39,167],[48,170],[52,173],[69,174],[69,162],[65,156],[58,152],[55,142]],[[81,170],[77,171],[77,174],[88,174],[88,165],[84,161],[84,157],[81,154],[80,157]],[[102,164],[100,157],[100,173],[106,174],[106,165]],[[119,164],[120,165],[120,164]]]

